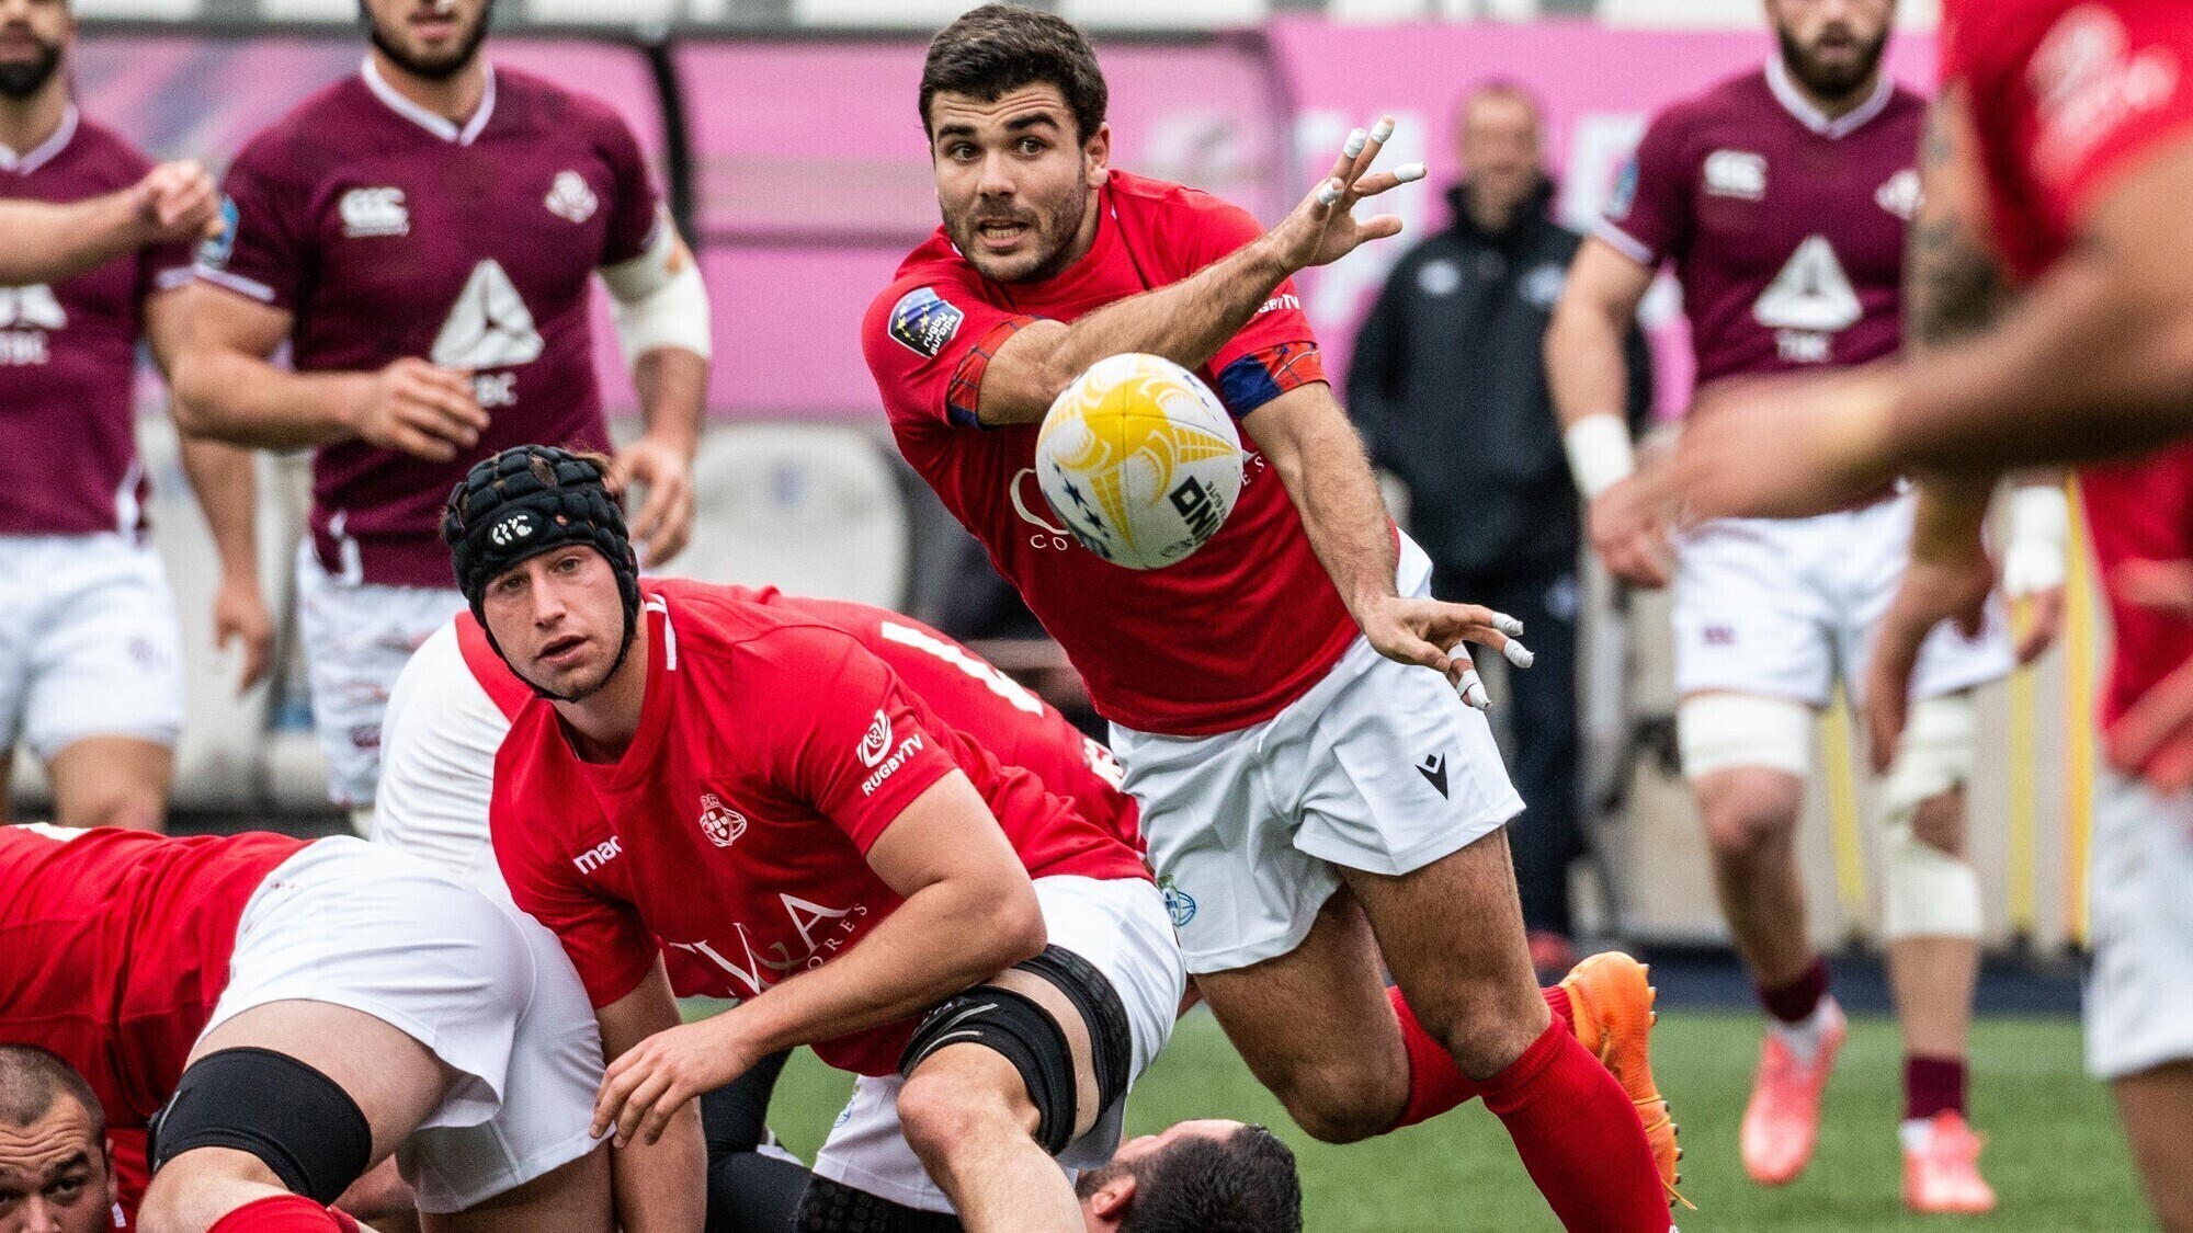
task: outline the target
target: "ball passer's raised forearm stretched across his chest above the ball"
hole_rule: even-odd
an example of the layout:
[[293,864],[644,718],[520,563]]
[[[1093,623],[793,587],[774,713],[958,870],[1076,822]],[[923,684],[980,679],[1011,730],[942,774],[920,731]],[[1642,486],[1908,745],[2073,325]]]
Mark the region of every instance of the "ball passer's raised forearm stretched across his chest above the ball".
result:
[[1110,303],[1072,325],[1013,336],[982,377],[985,423],[1029,423],[1096,360],[1140,351],[1202,369],[1272,298],[1292,270],[1254,239],[1169,287]]

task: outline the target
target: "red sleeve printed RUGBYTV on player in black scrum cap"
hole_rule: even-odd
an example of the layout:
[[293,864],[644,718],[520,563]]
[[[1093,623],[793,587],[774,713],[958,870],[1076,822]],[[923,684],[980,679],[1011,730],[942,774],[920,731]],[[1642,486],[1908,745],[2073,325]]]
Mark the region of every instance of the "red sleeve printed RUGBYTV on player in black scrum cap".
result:
[[958,770],[890,665],[851,634],[794,625],[770,654],[796,689],[772,689],[772,763],[783,788],[868,851],[897,816]]

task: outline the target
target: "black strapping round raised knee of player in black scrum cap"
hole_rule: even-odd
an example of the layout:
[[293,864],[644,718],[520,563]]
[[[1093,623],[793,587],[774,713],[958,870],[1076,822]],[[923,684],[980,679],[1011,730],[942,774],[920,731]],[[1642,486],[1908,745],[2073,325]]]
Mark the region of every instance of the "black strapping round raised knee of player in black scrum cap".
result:
[[[1013,970],[1042,976],[1057,987],[1090,1031],[1090,1062],[1096,1071],[1096,1108],[1105,1108],[1127,1090],[1132,1038],[1127,1007],[1118,989],[1088,959],[1046,946],[1042,954]],[[1066,1029],[1035,998],[998,985],[976,985],[945,1000],[921,1020],[914,1038],[899,1055],[899,1073],[912,1075],[930,1053],[945,1044],[982,1044],[1020,1071],[1020,1082],[1035,1104],[1035,1141],[1057,1156],[1072,1143],[1079,1112],[1075,1055]]]

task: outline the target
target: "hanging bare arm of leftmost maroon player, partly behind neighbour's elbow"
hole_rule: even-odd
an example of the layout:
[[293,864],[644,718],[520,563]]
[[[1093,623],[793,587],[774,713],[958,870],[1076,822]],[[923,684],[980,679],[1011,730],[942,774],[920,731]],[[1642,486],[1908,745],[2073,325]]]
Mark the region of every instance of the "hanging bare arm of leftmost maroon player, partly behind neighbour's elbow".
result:
[[[145,344],[162,375],[171,375],[182,344],[186,287],[145,296]],[[206,513],[213,551],[221,557],[221,586],[213,592],[213,645],[235,645],[243,658],[237,689],[250,689],[274,663],[274,616],[259,588],[259,483],[252,454],[237,445],[178,434],[182,472]]]

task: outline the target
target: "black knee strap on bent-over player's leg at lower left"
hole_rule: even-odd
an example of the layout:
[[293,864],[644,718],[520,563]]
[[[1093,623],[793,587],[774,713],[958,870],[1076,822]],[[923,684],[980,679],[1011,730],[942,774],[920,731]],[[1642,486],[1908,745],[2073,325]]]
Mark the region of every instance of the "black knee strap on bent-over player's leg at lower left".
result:
[[289,1194],[336,1202],[373,1163],[373,1128],[342,1084],[272,1049],[221,1049],[182,1073],[145,1132],[154,1172],[193,1147],[250,1152]]

